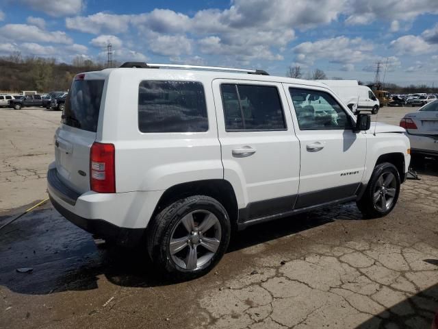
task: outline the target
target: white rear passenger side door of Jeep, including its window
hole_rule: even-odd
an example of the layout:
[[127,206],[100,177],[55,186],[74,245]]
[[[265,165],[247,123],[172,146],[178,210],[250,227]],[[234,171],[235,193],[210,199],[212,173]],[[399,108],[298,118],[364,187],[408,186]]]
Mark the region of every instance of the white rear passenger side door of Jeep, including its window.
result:
[[281,84],[214,80],[213,90],[224,179],[243,190],[240,221],[292,210],[300,145]]

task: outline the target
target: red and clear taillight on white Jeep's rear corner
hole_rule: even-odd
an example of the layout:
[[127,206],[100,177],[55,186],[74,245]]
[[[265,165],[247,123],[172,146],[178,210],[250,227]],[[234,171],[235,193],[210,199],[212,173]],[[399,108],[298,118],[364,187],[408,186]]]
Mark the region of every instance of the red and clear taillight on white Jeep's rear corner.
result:
[[90,150],[90,186],[99,193],[116,193],[116,151],[113,144],[94,142]]

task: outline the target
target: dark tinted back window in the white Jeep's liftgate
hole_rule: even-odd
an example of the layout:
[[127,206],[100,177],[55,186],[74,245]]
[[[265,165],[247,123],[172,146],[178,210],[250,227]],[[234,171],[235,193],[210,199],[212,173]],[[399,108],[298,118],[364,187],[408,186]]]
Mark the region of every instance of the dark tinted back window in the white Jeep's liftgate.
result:
[[62,122],[70,127],[97,131],[104,80],[75,80],[68,93]]

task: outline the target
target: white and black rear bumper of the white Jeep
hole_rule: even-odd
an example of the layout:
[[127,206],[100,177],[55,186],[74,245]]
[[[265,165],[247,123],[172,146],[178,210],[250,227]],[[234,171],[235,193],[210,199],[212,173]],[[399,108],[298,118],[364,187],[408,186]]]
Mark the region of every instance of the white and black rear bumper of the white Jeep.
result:
[[47,191],[53,207],[68,221],[103,239],[120,245],[136,245],[155,210],[162,193],[80,194],[66,186],[56,168],[47,172]]

